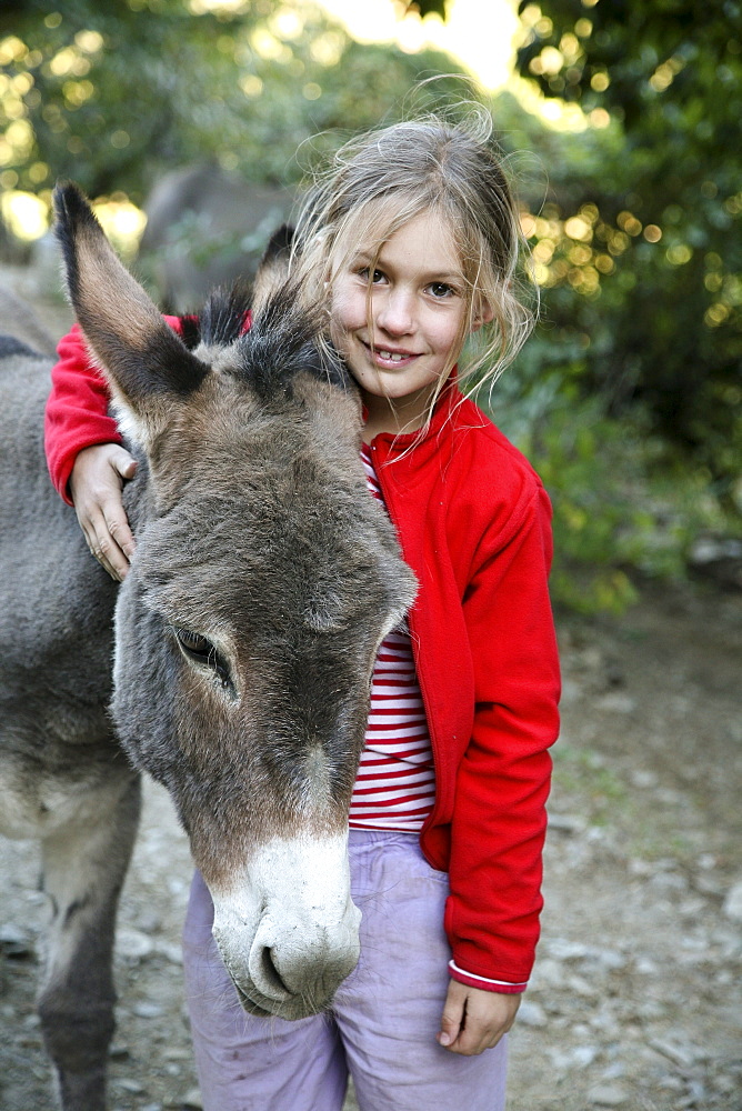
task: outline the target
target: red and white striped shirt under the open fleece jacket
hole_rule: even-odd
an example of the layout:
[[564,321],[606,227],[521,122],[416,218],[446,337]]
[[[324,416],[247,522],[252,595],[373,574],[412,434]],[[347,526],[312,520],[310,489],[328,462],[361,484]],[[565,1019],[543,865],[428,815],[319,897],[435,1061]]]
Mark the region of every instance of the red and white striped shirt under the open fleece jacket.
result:
[[[362,446],[369,490],[381,488]],[[351,829],[417,833],[433,808],[435,773],[407,621],[382,641],[373,667],[365,743],[350,805]]]

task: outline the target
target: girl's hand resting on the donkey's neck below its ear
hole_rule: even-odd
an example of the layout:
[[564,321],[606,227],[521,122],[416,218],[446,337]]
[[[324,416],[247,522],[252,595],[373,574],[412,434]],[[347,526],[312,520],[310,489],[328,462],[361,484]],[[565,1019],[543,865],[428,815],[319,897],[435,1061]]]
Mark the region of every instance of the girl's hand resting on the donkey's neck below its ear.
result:
[[112,579],[122,581],[134,553],[134,538],[123,510],[121,490],[137,460],[118,443],[83,448],[74,460],[70,493],[88,548]]

